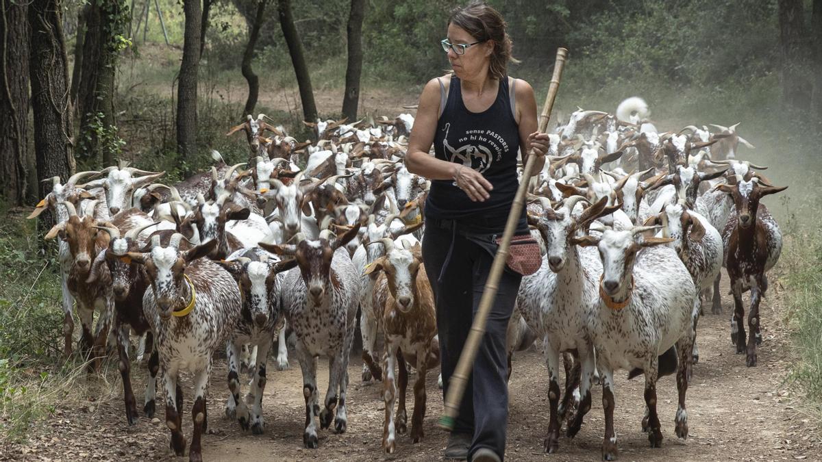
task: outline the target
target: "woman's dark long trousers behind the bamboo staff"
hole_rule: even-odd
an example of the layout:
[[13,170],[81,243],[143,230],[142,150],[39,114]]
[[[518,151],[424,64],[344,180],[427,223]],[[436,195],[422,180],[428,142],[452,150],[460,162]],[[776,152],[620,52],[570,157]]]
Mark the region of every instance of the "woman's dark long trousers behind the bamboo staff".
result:
[[[423,263],[436,301],[443,396],[448,392],[448,381],[469,335],[492,261],[493,256],[486,248],[462,234],[454,233],[452,229],[426,226]],[[501,458],[505,455],[508,423],[506,330],[521,279],[522,276],[510,270],[503,271],[483,342],[459,404],[454,432],[473,434],[469,460],[482,447],[494,450]]]

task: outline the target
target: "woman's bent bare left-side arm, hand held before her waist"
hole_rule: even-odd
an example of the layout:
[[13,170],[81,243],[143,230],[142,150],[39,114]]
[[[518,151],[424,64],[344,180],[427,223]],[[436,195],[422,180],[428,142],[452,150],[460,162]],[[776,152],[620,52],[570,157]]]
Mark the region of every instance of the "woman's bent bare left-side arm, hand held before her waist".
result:
[[417,117],[414,118],[409,148],[405,155],[405,168],[432,180],[454,179],[472,201],[485,201],[492,185],[481,173],[466,169],[462,164],[446,162],[428,155],[436,132],[436,121],[440,113],[440,84],[431,79],[419,97]]

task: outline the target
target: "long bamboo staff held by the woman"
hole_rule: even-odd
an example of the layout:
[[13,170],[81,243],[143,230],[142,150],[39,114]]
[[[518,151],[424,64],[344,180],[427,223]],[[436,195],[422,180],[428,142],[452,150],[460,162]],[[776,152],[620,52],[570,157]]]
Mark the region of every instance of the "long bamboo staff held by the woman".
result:
[[[568,56],[567,49],[556,50],[556,63],[554,64],[554,74],[551,77],[551,83],[548,85],[548,94],[545,96],[545,104],[543,105],[543,113],[539,116],[539,132],[545,132],[548,127],[548,119],[551,117],[551,109],[554,106],[554,99],[556,99],[556,90],[560,86],[560,78],[562,76],[562,69],[565,67],[566,58]],[[477,357],[479,344],[485,335],[485,325],[488,319],[488,313],[491,312],[492,303],[496,298],[496,290],[499,289],[500,276],[502,270],[506,265],[506,258],[508,257],[508,247],[511,238],[517,228],[517,223],[520,221],[520,212],[524,205],[525,192],[528,190],[529,178],[533,171],[534,158],[536,156],[529,155],[528,162],[525,163],[525,170],[520,181],[520,187],[517,189],[516,196],[514,196],[514,204],[511,206],[508,221],[506,222],[505,231],[502,233],[502,241],[499,250],[496,251],[494,262],[491,266],[491,272],[488,274],[488,279],[485,283],[485,290],[483,291],[483,298],[479,300],[479,308],[477,315],[473,317],[473,324],[468,338],[465,340],[465,346],[462,353],[459,355],[459,362],[451,375],[448,383],[448,394],[446,395],[445,413],[440,418],[439,425],[441,428],[451,431],[454,429],[455,418],[459,414],[459,403],[462,401],[465,392],[465,386],[468,384],[468,378],[471,375],[471,368],[473,367],[473,360]]]

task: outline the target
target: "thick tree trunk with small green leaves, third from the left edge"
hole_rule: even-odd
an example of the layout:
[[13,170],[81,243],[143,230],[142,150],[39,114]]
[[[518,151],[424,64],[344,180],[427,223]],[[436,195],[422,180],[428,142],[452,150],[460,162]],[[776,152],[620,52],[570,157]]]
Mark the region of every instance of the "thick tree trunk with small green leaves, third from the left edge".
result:
[[85,17],[83,68],[77,104],[80,136],[77,155],[100,159],[104,166],[116,164],[119,146],[114,120],[114,74],[120,44],[125,34],[124,0],[90,2]]

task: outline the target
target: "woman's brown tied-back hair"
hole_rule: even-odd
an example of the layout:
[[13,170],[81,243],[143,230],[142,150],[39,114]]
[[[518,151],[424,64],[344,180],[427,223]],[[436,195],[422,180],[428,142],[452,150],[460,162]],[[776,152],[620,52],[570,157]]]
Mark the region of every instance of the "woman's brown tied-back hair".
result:
[[506,32],[506,21],[500,12],[489,7],[481,0],[473,0],[464,7],[457,7],[451,12],[448,24],[453,24],[468,32],[474,39],[492,40],[494,51],[491,53],[489,71],[496,79],[506,76],[508,62],[520,62],[511,56],[510,36]]

